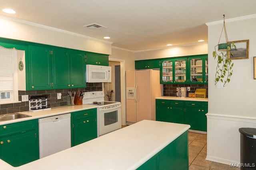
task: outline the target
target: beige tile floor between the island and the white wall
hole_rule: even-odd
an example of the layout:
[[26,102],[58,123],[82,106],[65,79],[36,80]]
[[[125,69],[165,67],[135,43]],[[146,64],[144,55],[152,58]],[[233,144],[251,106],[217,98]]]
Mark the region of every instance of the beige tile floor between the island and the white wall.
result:
[[207,135],[188,132],[189,170],[240,170],[227,164],[205,160],[207,155]]

